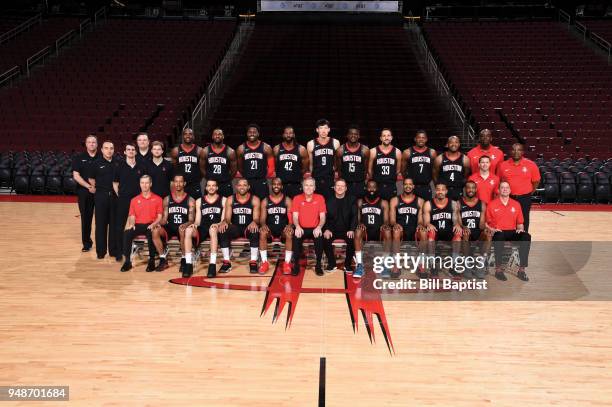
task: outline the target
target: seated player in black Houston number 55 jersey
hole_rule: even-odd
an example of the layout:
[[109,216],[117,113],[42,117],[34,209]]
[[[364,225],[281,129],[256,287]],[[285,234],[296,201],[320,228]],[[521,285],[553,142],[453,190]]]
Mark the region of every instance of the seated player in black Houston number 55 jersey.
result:
[[185,269],[185,229],[195,220],[195,200],[185,192],[185,176],[175,174],[172,178],[174,192],[164,198],[164,213],[160,222],[161,227],[153,229],[153,243],[160,253],[159,265],[156,271],[168,268],[168,261],[164,254],[162,235],[165,235],[166,244],[176,237],[181,245],[181,273]]

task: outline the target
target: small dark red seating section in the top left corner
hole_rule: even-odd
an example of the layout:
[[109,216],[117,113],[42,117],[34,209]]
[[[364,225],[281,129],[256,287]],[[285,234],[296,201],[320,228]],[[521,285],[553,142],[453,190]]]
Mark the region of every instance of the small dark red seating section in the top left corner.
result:
[[78,31],[78,18],[50,18],[34,25],[15,39],[0,45],[0,73],[18,65],[25,72],[26,60],[48,46],[70,30]]

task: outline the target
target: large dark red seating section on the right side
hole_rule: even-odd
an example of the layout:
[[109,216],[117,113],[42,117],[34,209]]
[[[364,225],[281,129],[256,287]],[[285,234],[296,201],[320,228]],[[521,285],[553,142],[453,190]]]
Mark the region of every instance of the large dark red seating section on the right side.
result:
[[518,139],[531,158],[612,156],[612,69],[565,26],[433,22],[424,27],[476,127],[494,130],[494,142],[504,151]]

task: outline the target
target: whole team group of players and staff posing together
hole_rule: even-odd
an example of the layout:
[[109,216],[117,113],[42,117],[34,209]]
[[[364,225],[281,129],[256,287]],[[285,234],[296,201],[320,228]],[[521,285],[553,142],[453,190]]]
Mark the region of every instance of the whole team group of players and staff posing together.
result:
[[[487,129],[464,154],[456,135],[448,138],[444,152],[436,152],[424,130],[402,149],[393,144],[391,129],[382,129],[380,144],[369,147],[361,144],[356,125],[346,129],[343,142],[330,137],[327,120],[314,127],[316,136],[305,146],[290,126],[282,129],[282,142],[271,146],[261,139],[259,126],[249,124],[245,141],[235,149],[218,128],[204,147],[186,128],[181,143],[169,151],[146,133],[121,147],[87,136],[85,151],[72,163],[82,250],[90,251],[95,241],[98,259],[108,254],[126,272],[132,269],[134,239],[145,237],[146,271],[160,272],[169,267],[167,244],[175,238],[179,271],[187,278],[199,260],[197,248],[208,240],[206,275],[212,278],[231,271],[231,243],[239,238],[248,240],[250,273],[266,274],[272,268],[268,244],[274,240],[284,244],[280,270],[297,275],[304,243],[311,241],[318,276],[342,268],[361,278],[366,242],[380,242],[388,256],[399,253],[402,241],[413,242],[420,253],[434,252],[435,242],[450,242],[453,255],[468,254],[476,242],[485,256],[493,246],[495,277],[504,281],[504,242],[512,241],[518,243],[516,275],[528,281],[529,212],[540,173],[523,157],[521,144],[504,159]],[[121,157],[116,153],[122,147]],[[334,252],[334,243],[341,241],[343,267]],[[417,275],[438,272],[421,268]],[[450,273],[484,278],[486,269]],[[394,268],[381,272],[383,278],[399,276]]]

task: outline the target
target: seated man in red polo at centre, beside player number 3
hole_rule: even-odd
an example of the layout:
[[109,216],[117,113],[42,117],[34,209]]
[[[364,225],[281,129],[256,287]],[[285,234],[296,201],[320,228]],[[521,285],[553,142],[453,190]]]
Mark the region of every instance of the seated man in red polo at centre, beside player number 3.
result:
[[[315,273],[318,276],[323,275],[323,266],[321,259],[323,257],[323,225],[325,225],[325,214],[327,207],[323,195],[315,194],[315,180],[306,178],[302,182],[302,190],[304,193],[296,195],[291,203],[291,218],[295,225],[295,233],[293,234],[293,250],[295,251],[295,263],[293,272],[291,270],[290,251],[285,252],[285,264],[283,266],[283,274],[298,275],[300,272],[300,257],[302,255],[302,243],[304,239],[311,238],[315,244],[315,254],[317,263]],[[330,261],[331,259],[327,259]],[[335,260],[335,259],[334,259]]]

